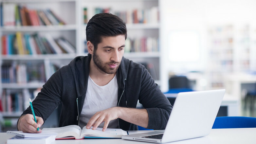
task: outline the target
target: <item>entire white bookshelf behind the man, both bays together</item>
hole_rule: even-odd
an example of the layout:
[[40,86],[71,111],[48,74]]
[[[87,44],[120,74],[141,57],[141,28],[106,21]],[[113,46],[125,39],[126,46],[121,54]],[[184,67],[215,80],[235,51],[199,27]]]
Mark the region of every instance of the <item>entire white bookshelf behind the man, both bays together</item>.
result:
[[[21,36],[28,35],[27,37],[32,37],[33,34],[38,34],[39,38],[44,38],[50,35],[53,39],[58,39],[63,37],[71,45],[74,46],[75,52],[64,52],[64,53],[45,53],[45,54],[35,54],[35,53],[25,53],[25,54],[2,54],[3,52],[3,41],[0,41],[1,45],[1,57],[0,57],[0,94],[2,103],[5,101],[6,104],[10,101],[18,100],[21,103],[13,103],[11,106],[5,105],[5,110],[0,114],[3,117],[2,123],[8,123],[8,125],[2,125],[2,129],[6,130],[16,130],[16,120],[22,113],[22,111],[29,104],[26,104],[27,97],[34,97],[37,95],[38,90],[43,86],[45,81],[54,73],[56,69],[68,64],[74,57],[78,55],[87,55],[86,45],[85,45],[85,27],[84,24],[84,8],[86,8],[86,18],[89,20],[94,14],[95,9],[108,9],[109,12],[113,14],[120,14],[121,12],[133,12],[137,10],[138,14],[142,11],[148,11],[152,13],[155,17],[152,19],[145,19],[145,22],[126,22],[128,30],[128,40],[133,41],[144,41],[144,44],[136,42],[135,45],[130,43],[131,47],[129,51],[126,51],[124,56],[134,62],[138,63],[150,63],[149,67],[155,70],[155,81],[161,86],[161,74],[160,74],[160,19],[159,19],[159,0],[0,0],[2,6],[5,4],[25,6],[27,9],[38,10],[38,9],[51,9],[59,16],[65,25],[39,25],[39,26],[1,26],[0,36],[6,35],[17,35],[20,33]],[[125,8],[124,8],[125,6]],[[1,14],[4,14],[3,8],[1,8]],[[151,12],[150,12],[151,11]],[[149,15],[149,14],[148,14]],[[143,18],[143,17],[140,17]],[[25,39],[25,37],[24,37]],[[146,43],[148,41],[148,43]],[[30,41],[28,41],[30,42]],[[29,43],[30,44],[30,43]],[[127,45],[127,46],[128,46]],[[155,45],[151,46],[150,45]],[[144,47],[141,50],[141,47]],[[132,50],[133,48],[133,50]],[[126,50],[128,48],[126,47]],[[136,49],[136,50],[135,50]],[[17,70],[17,67],[25,67],[25,74],[23,73],[23,82],[15,81],[12,76],[12,81],[2,80],[5,79],[3,72]],[[38,68],[41,67],[40,70]],[[3,70],[5,69],[5,70]],[[30,71],[30,72],[29,72]],[[42,74],[43,78],[34,77],[33,73]],[[9,73],[9,72],[7,72]],[[26,75],[26,76],[25,76]],[[26,78],[25,78],[26,77]],[[8,77],[9,78],[9,77]],[[25,78],[25,79],[24,79]],[[14,80],[13,80],[14,79]],[[17,79],[17,78],[16,78]],[[8,82],[7,82],[8,81]],[[5,95],[5,98],[3,97]],[[10,95],[7,97],[7,95]],[[13,123],[15,122],[15,123]],[[51,127],[51,125],[49,125]]]

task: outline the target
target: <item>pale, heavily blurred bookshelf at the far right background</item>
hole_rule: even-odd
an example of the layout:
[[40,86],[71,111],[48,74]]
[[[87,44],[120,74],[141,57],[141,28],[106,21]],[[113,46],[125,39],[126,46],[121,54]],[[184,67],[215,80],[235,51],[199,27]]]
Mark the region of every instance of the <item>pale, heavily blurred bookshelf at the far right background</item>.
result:
[[225,88],[233,74],[255,75],[255,25],[223,24],[208,27],[209,80],[213,89]]

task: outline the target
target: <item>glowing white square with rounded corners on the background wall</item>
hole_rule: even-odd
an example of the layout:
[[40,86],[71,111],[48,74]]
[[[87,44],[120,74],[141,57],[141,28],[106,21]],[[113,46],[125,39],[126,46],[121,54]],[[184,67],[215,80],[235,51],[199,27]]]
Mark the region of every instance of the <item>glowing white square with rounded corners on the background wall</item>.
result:
[[169,34],[169,60],[171,62],[199,61],[199,34],[196,31],[175,31]]

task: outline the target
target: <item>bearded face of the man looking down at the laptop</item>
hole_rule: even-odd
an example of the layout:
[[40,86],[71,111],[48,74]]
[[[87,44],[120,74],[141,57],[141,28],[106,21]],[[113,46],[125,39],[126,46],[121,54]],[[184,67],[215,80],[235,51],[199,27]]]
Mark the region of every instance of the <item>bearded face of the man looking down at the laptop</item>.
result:
[[104,37],[92,55],[96,68],[106,74],[115,74],[123,57],[124,35]]

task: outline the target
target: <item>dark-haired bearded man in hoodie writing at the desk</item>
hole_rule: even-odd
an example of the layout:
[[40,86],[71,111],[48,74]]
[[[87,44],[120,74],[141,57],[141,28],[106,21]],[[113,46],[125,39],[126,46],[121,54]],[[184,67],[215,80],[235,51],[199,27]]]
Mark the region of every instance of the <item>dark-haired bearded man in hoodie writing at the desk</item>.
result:
[[[172,106],[145,67],[123,57],[126,37],[119,17],[93,16],[86,26],[88,56],[76,57],[50,77],[32,102],[37,123],[28,107],[18,130],[40,133],[36,128],[60,103],[60,127],[165,129]],[[136,109],[138,100],[145,109]]]

